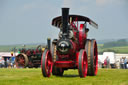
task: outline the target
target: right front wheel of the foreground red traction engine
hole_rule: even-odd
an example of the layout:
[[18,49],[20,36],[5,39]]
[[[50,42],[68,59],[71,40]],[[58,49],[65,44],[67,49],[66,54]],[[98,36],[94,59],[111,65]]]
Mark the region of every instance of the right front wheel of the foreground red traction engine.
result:
[[80,50],[78,56],[78,70],[80,77],[86,77],[88,69],[87,55],[85,50]]

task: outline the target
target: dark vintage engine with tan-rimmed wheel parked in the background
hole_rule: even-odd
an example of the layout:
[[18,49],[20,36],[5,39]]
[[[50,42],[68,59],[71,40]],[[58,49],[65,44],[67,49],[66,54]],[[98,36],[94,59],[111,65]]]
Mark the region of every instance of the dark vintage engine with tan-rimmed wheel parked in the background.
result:
[[42,45],[36,49],[20,49],[20,53],[16,56],[15,63],[17,68],[37,68],[41,65],[41,55],[43,53]]

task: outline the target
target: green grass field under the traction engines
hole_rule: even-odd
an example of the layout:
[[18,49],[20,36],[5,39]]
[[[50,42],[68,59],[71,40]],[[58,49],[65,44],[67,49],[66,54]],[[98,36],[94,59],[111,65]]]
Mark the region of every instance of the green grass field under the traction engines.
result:
[[0,85],[128,85],[128,70],[99,69],[97,76],[80,78],[77,70],[63,77],[44,78],[38,69],[0,69]]

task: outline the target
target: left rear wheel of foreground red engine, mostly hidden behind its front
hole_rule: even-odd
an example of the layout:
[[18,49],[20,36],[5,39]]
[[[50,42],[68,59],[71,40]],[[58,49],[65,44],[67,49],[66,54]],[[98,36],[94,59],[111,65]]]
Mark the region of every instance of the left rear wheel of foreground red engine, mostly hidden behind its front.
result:
[[[58,56],[56,55],[56,45],[52,44],[52,59],[53,61],[58,60]],[[62,68],[57,68],[53,65],[52,74],[56,76],[63,76],[64,70]]]

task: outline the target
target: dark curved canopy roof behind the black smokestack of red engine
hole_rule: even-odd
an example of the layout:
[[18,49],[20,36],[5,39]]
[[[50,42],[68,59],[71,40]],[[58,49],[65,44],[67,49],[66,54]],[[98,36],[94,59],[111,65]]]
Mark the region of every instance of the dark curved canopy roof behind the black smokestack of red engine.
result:
[[[77,21],[85,21],[85,22],[88,22],[93,27],[98,28],[98,24],[96,24],[94,21],[92,21],[88,17],[81,16],[81,15],[69,15],[69,20],[70,18],[72,19],[72,21],[75,21],[77,18]],[[53,26],[60,28],[61,24],[62,24],[61,16],[53,18],[52,20]]]

